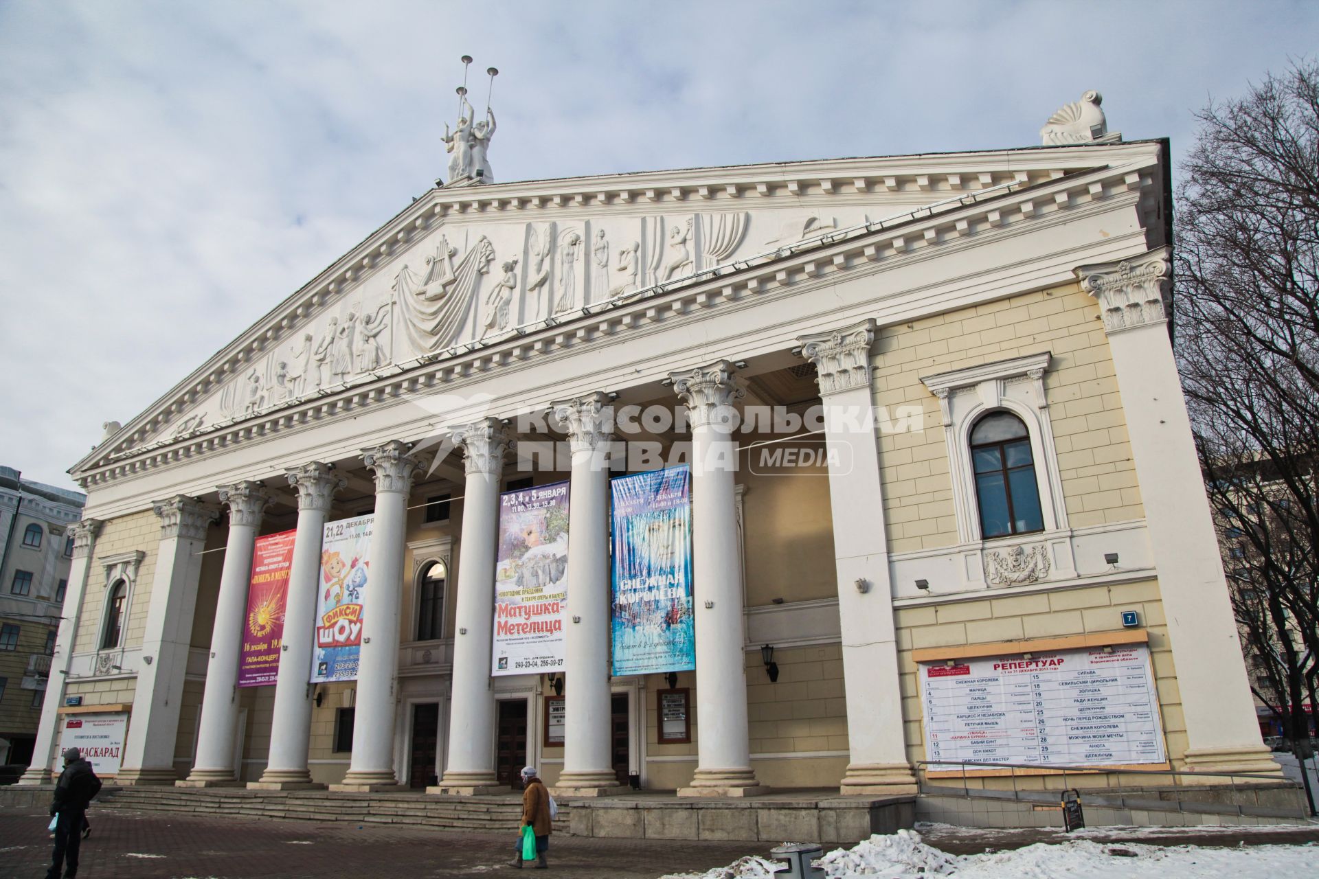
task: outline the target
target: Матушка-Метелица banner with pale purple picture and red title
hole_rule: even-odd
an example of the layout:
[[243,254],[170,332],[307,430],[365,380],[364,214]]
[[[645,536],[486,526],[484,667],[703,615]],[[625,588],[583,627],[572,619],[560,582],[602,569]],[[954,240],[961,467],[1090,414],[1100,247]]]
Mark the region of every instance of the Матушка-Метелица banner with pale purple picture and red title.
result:
[[568,484],[501,494],[491,675],[563,668],[567,571]]

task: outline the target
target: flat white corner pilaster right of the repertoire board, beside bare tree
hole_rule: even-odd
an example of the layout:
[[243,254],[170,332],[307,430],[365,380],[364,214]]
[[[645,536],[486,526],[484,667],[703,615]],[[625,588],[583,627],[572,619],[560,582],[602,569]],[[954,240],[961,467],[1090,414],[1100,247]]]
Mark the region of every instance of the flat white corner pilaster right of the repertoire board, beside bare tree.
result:
[[[1076,269],[1099,300],[1182,696],[1186,768],[1277,772],[1254,702],[1169,339],[1171,253]],[[1206,779],[1212,781],[1212,779]]]

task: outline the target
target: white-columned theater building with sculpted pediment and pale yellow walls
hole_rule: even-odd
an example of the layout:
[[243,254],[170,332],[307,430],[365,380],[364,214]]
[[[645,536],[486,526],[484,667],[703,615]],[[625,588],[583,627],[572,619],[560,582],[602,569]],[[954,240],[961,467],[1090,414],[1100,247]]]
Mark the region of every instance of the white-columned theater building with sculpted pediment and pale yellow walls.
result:
[[[1173,358],[1169,145],[1045,140],[437,184],[73,468],[24,781],[95,723],[120,784],[1275,772]],[[611,480],[677,464],[694,668],[612,673]],[[561,482],[561,659],[495,668],[501,498]],[[360,614],[326,615],[365,515]],[[355,673],[313,681],[339,622]]]

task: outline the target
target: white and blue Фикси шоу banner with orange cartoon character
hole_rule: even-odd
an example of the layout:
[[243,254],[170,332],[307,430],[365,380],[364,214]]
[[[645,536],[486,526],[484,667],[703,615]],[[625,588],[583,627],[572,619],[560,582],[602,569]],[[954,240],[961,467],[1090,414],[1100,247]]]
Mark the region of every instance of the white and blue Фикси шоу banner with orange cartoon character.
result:
[[371,573],[367,552],[375,518],[359,515],[326,522],[317,579],[317,650],[311,658],[311,683],[357,680],[361,611]]

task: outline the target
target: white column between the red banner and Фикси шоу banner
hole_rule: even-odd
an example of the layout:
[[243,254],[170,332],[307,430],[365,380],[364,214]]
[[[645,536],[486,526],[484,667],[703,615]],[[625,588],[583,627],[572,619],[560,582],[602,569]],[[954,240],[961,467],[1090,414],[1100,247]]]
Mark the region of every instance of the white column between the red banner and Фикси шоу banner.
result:
[[313,633],[321,575],[321,538],[334,493],[347,480],[332,464],[313,461],[288,470],[289,485],[298,490],[298,534],[293,540],[288,600],[284,608],[284,638],[280,671],[274,683],[274,718],[270,722],[270,756],[260,781],[249,788],[289,791],[321,787],[311,783],[307,746],[311,734]]

